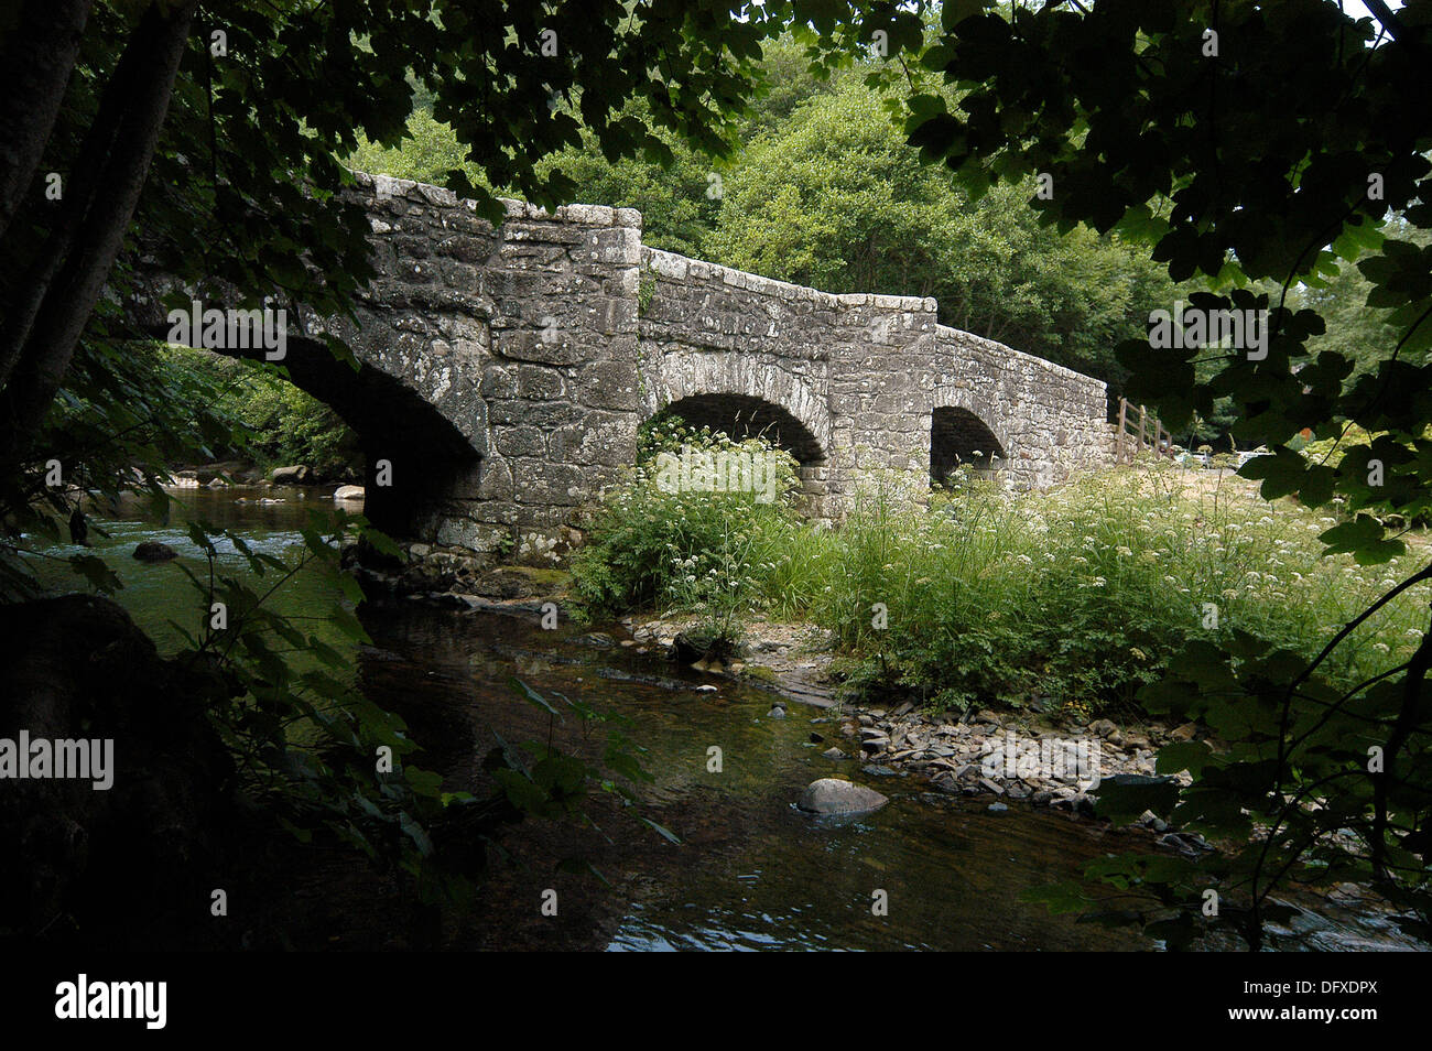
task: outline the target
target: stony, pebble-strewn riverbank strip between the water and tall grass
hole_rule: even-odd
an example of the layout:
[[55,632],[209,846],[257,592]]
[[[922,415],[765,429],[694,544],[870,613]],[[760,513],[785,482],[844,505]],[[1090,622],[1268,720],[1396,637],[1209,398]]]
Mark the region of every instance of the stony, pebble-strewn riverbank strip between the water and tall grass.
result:
[[[567,574],[520,566],[484,566],[455,553],[411,546],[417,563],[400,573],[369,573],[369,580],[400,594],[451,609],[518,613],[540,620],[547,603],[570,609]],[[838,730],[825,735],[826,759],[848,763],[866,778],[911,776],[952,796],[987,798],[997,808],[1027,802],[1037,808],[1094,816],[1104,780],[1157,778],[1156,753],[1174,742],[1204,739],[1193,723],[1167,726],[1140,722],[1120,726],[1110,719],[1054,719],[1040,713],[981,707],[938,712],[912,702],[856,703],[842,696],[835,673],[833,633],[815,624],[783,623],[753,616],[742,623],[733,653],[716,657],[695,652],[687,639],[700,629],[695,614],[627,616],[619,621],[626,639],[607,631],[583,636],[594,644],[620,646],[639,656],[657,656],[709,677],[712,684],[737,682],[778,694],[788,710],[802,704],[829,713]],[[715,689],[720,689],[715,686]],[[1210,742],[1210,747],[1221,747]],[[1187,785],[1187,772],[1171,776]],[[1206,851],[1197,835],[1170,830],[1153,813],[1138,823],[1163,835],[1181,853]]]

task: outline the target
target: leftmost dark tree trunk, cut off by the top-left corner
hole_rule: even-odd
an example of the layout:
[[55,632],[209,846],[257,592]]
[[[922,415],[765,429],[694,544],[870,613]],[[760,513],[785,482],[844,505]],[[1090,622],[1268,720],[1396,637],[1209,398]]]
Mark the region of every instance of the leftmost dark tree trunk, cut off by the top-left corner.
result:
[[44,156],[89,11],[90,0],[29,0],[0,53],[0,236]]

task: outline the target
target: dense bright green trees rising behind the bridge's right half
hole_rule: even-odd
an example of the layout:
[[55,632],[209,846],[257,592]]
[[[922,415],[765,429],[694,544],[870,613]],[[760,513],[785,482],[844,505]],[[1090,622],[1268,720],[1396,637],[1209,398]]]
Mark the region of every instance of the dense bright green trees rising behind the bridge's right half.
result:
[[1173,284],[1117,236],[1041,226],[1030,185],[979,199],[921,166],[861,80],[800,103],[725,180],[713,261],[835,292],[934,295],[941,321],[1118,388],[1113,348]]

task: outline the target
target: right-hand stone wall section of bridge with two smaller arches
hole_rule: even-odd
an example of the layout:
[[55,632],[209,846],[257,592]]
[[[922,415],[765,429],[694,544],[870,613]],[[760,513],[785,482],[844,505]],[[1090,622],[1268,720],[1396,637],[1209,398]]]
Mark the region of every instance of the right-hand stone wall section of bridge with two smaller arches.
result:
[[849,505],[865,471],[928,471],[944,410],[974,418],[957,424],[954,458],[1014,488],[1108,462],[1103,382],[939,325],[934,299],[835,295],[654,249],[643,271],[643,410],[713,394],[775,402],[793,420],[768,432],[802,462],[822,517]]

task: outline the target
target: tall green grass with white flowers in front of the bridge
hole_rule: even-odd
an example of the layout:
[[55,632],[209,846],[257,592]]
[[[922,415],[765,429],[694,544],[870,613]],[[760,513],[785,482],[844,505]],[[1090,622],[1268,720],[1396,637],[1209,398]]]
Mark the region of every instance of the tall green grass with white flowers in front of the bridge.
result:
[[[637,553],[654,551],[720,581],[737,597],[727,610],[832,629],[858,692],[954,709],[1128,715],[1138,686],[1187,640],[1233,631],[1312,657],[1425,561],[1419,547],[1370,568],[1323,557],[1317,536],[1333,515],[1269,504],[1236,478],[1214,484],[1171,465],[1021,495],[975,480],[932,495],[922,480],[878,475],[833,530],[769,505],[732,514],[713,494],[657,505],[634,498],[642,484],[609,505],[579,583],[593,573],[640,577],[647,556]],[[693,528],[692,517],[706,526]],[[680,581],[666,580],[624,594],[670,609],[712,606],[712,589],[683,594]],[[1429,599],[1429,587],[1400,596],[1337,649],[1327,673],[1352,683],[1403,660]]]

